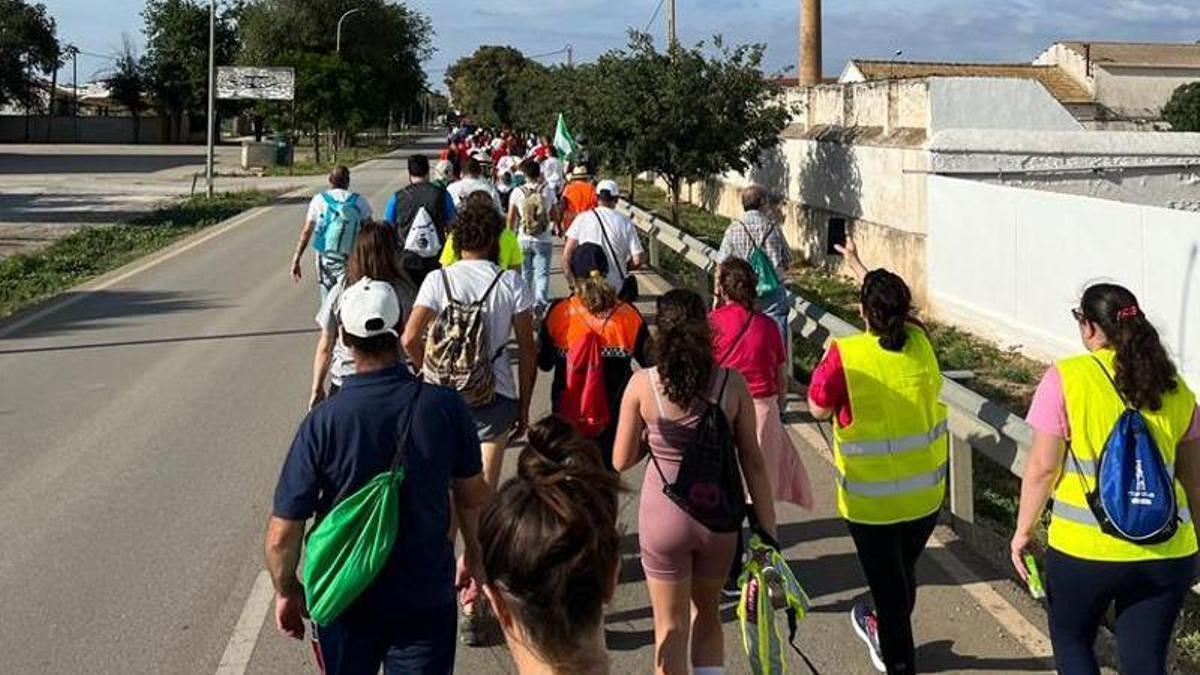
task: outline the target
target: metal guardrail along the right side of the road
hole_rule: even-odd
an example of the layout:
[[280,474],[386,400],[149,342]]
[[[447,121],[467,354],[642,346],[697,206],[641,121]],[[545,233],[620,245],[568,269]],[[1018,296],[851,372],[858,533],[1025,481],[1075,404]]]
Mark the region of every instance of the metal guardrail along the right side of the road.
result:
[[[706,289],[710,291],[710,280],[718,265],[716,250],[628,201],[623,199],[619,209],[647,235],[650,267],[660,268],[661,253],[665,247],[702,270],[708,279]],[[799,295],[793,295],[793,298],[792,331],[809,342],[823,346],[832,338],[842,338],[860,331],[826,309]],[[1033,429],[1024,419],[997,404],[944,377],[942,401],[950,411],[949,495],[952,520],[960,534],[973,539],[982,532],[976,527],[974,518],[972,453],[979,452],[1020,477],[1025,472],[1028,448],[1033,444]],[[1007,548],[1004,557],[1007,558]]]

